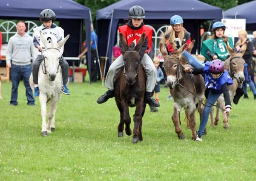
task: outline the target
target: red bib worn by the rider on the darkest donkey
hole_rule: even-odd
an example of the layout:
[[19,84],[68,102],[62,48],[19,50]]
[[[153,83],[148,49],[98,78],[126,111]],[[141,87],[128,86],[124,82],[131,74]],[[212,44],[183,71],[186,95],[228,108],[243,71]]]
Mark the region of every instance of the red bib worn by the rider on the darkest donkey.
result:
[[148,47],[149,50],[146,50],[145,53],[149,53],[152,47],[152,35],[153,35],[153,30],[152,28],[143,25],[140,29],[138,30],[133,30],[130,28],[128,25],[123,25],[118,27],[119,33],[122,33],[127,41],[127,45],[129,46],[132,42],[137,45],[141,35],[143,33],[146,33],[146,38],[148,41]]

